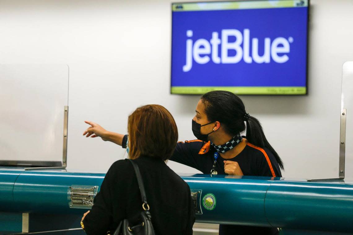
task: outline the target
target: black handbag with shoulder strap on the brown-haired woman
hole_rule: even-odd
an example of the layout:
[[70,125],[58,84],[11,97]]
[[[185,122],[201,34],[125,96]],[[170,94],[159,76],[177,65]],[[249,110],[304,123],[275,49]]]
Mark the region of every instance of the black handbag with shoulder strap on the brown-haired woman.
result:
[[140,188],[141,197],[142,197],[142,209],[143,211],[140,214],[141,223],[131,226],[127,219],[122,220],[118,228],[116,228],[113,235],[155,235],[155,231],[152,226],[150,206],[147,203],[145,187],[143,185],[143,180],[141,177],[140,170],[136,163],[129,159],[136,173],[136,178],[138,186]]

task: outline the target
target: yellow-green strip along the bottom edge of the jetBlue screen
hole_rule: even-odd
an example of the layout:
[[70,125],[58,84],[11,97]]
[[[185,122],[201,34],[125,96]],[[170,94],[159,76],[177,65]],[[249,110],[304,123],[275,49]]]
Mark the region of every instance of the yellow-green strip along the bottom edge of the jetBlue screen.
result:
[[181,87],[172,86],[172,94],[204,94],[209,91],[230,91],[239,95],[305,95],[306,87]]

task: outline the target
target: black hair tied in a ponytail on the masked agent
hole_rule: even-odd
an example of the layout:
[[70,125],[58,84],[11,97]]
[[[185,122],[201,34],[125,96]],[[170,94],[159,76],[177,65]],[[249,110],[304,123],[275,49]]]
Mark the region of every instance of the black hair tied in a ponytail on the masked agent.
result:
[[246,113],[244,103],[237,95],[228,91],[210,91],[201,100],[208,120],[222,123],[229,135],[243,132],[246,120],[246,139],[260,148],[268,148],[284,169],[282,159],[267,141],[259,120]]

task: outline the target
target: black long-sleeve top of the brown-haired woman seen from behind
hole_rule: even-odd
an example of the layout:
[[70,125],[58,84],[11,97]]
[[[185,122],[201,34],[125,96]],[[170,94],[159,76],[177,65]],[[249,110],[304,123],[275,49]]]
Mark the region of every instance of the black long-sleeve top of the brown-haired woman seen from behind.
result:
[[[144,181],[156,234],[192,234],[195,211],[189,185],[161,159],[140,156],[134,161]],[[83,221],[86,234],[113,232],[125,218],[137,223],[141,211],[141,194],[133,166],[126,159],[116,161],[104,177],[94,205]]]

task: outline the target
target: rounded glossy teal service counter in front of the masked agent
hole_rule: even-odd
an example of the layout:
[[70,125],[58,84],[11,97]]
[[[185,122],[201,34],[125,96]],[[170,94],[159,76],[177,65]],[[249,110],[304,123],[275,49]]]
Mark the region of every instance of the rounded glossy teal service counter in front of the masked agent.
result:
[[[180,177],[192,192],[198,192],[197,222],[353,233],[350,183],[203,174]],[[104,174],[96,173],[0,169],[0,210],[82,215],[90,206],[70,207],[70,186],[97,186],[99,191],[103,178]]]

